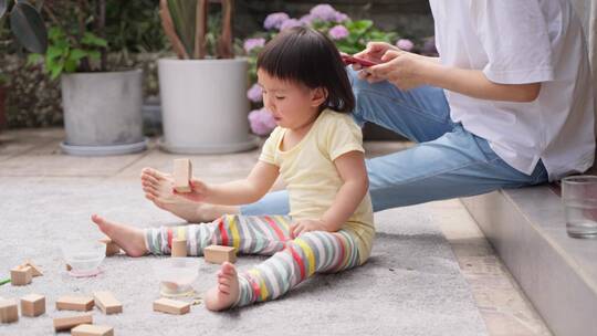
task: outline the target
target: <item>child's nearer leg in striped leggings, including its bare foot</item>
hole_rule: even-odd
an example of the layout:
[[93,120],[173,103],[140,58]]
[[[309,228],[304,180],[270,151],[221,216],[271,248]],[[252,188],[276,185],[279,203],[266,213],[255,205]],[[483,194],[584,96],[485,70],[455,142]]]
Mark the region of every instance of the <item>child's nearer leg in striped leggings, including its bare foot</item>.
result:
[[307,232],[238,277],[231,264],[222,265],[219,285],[208,292],[206,305],[218,311],[275,300],[315,272],[339,272],[359,264],[357,241],[348,231]]

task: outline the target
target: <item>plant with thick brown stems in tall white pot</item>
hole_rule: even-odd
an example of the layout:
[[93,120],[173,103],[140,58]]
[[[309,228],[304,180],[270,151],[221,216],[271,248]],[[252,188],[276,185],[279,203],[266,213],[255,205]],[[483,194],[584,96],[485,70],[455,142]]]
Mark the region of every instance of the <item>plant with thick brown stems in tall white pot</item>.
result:
[[233,153],[256,146],[247,119],[248,61],[234,57],[232,48],[233,1],[221,1],[219,38],[217,24],[208,22],[208,3],[160,0],[161,23],[178,55],[158,61],[160,147],[167,151]]

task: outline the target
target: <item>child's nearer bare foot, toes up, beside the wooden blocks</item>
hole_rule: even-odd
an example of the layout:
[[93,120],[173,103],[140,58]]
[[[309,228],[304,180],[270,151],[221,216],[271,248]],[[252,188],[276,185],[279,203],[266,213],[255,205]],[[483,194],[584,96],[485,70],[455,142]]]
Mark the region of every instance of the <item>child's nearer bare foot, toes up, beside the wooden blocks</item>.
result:
[[239,275],[234,265],[224,262],[218,272],[218,286],[206,293],[206,307],[210,311],[228,309],[239,298]]

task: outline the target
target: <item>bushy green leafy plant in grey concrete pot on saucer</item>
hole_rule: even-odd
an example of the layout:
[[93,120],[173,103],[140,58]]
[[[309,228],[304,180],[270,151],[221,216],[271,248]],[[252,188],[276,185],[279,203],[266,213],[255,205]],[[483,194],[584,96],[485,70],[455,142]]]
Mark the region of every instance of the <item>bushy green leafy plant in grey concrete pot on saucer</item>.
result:
[[108,71],[105,0],[52,1],[43,6],[52,27],[44,61],[52,80],[60,77],[66,139],[71,155],[118,155],[147,147],[143,135],[140,70]]

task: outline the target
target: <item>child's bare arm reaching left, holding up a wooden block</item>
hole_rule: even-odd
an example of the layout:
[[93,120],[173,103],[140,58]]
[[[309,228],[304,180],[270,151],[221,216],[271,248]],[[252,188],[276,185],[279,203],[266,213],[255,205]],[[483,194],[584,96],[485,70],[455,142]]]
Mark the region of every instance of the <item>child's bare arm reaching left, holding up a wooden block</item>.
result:
[[258,161],[245,179],[211,185],[193,178],[191,179],[191,192],[175,192],[198,202],[222,206],[248,204],[265,196],[279,174],[276,166]]

